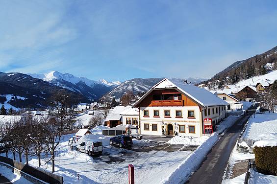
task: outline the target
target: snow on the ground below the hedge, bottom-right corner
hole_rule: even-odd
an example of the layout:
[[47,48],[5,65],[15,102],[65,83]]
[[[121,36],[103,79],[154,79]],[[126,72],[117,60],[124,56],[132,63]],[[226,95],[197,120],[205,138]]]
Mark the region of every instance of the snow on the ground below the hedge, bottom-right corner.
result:
[[248,184],[277,184],[277,176],[264,175],[255,169],[250,169],[250,179]]

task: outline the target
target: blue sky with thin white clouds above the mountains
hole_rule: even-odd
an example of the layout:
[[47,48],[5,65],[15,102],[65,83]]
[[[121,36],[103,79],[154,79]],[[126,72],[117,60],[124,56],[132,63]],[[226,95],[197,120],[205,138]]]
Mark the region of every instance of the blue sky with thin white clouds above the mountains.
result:
[[211,77],[277,46],[276,0],[1,0],[0,71]]

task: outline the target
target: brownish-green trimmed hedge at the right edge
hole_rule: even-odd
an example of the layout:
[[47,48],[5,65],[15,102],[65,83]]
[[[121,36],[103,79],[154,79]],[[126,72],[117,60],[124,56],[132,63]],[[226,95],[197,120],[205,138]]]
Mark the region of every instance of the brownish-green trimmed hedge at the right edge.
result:
[[277,176],[277,146],[255,146],[253,151],[258,172]]

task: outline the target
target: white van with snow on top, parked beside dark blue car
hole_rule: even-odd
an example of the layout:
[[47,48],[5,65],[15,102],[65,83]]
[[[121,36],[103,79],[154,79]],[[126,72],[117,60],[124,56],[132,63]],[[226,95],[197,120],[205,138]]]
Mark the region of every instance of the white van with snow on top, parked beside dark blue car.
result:
[[77,151],[87,153],[88,155],[102,154],[103,144],[101,140],[87,140],[77,145]]

